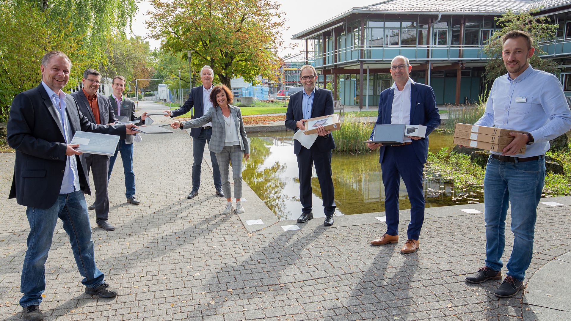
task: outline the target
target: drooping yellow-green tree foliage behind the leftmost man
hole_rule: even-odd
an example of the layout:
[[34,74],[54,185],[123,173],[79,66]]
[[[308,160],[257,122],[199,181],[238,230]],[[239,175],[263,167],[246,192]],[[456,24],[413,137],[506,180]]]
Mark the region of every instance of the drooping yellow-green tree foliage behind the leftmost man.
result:
[[0,121],[15,95],[38,86],[46,51],[70,57],[69,90],[83,70],[107,64],[108,39],[124,32],[136,9],[136,0],[0,1]]

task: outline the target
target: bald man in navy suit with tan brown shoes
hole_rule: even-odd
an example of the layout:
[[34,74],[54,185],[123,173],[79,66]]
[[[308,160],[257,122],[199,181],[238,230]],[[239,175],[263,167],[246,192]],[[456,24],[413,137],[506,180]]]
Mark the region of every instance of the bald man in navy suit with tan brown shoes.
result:
[[[397,56],[392,60],[391,75],[395,83],[380,95],[376,124],[424,125],[427,127],[425,137],[406,137],[400,146],[368,143],[370,149],[381,147],[379,163],[383,172],[387,217],[387,232],[372,240],[371,244],[399,242],[399,188],[402,177],[412,206],[408,240],[401,248],[403,253],[412,253],[419,248],[420,228],[424,222],[423,170],[427,161],[428,135],[440,125],[440,115],[432,88],[413,82],[408,77],[411,70],[412,66],[406,57]],[[370,139],[373,134],[375,129]]]

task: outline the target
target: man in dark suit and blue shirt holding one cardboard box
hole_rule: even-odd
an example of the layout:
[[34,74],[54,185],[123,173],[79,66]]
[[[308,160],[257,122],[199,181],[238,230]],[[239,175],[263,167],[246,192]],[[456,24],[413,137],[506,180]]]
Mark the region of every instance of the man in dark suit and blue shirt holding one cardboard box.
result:
[[[289,97],[286,113],[286,127],[293,131],[305,130],[304,122],[309,118],[333,114],[333,95],[331,91],[315,86],[317,81],[315,68],[310,65],[301,66],[299,79],[303,83],[303,90]],[[325,131],[323,126],[317,128],[317,134],[315,142],[309,149],[301,146],[297,140],[293,142],[293,153],[297,155],[299,168],[299,200],[302,206],[301,216],[297,222],[305,223],[313,219],[311,175],[312,166],[315,164],[325,212],[323,224],[331,226],[336,207],[331,178],[331,150],[335,148],[335,142],[331,132]]]

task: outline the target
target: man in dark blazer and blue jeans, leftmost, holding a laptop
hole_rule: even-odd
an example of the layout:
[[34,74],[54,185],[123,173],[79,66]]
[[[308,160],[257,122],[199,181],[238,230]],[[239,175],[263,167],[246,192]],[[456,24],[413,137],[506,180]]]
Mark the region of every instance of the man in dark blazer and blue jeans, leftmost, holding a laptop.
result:
[[76,131],[120,137],[134,133],[132,124],[104,126],[89,122],[75,99],[63,93],[71,70],[71,61],[64,53],[46,53],[40,70],[42,82],[14,98],[7,125],[7,142],[16,150],[9,198],[27,207],[30,223],[20,286],[24,295],[19,302],[23,319],[28,321],[43,319],[38,306],[46,288],[45,262],[58,218],[69,235],[85,292],[103,298],[117,295],[95,265],[83,197],[83,193],[91,193],[87,166],[82,153],[74,150],[79,145],[70,142]]

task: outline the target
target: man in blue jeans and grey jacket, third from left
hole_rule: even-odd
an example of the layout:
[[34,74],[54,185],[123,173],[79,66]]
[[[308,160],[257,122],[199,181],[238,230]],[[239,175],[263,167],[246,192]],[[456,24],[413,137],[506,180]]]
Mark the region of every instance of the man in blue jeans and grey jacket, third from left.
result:
[[[128,121],[139,122],[142,125],[147,113],[143,113],[140,117],[135,117],[135,102],[124,97],[126,80],[123,76],[115,76],[112,81],[113,93],[108,97],[111,103],[112,111],[116,116],[126,116]],[[125,175],[125,197],[127,203],[139,205],[139,200],[135,198],[135,171],[133,170],[133,141],[134,135],[127,135],[127,138],[121,139],[117,145],[115,154],[109,159],[109,172],[107,173],[107,181],[111,178],[111,171],[117,154],[121,152],[121,160],[123,161],[123,173]]]

